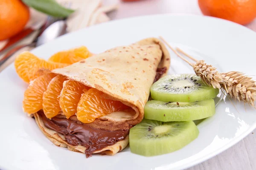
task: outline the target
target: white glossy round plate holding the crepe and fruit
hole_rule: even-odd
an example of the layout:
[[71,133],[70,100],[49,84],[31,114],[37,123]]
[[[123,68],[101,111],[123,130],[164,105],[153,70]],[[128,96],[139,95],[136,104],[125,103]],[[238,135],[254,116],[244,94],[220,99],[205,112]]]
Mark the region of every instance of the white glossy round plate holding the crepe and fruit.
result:
[[[244,71],[255,75],[256,33],[228,21],[201,16],[151,15],[116,20],[67,34],[32,51],[47,59],[57,51],[79,45],[99,53],[128,45],[146,37],[162,35],[173,46],[183,48],[197,59],[205,59],[220,71]],[[192,73],[192,68],[171,51],[170,74]],[[255,78],[255,77],[254,77]],[[0,73],[0,169],[183,169],[205,161],[243,139],[256,127],[256,110],[241,103],[236,109],[228,99],[216,114],[198,124],[200,134],[181,150],[161,156],[143,157],[126,148],[115,156],[93,155],[56,147],[22,111],[27,85],[10,65]]]

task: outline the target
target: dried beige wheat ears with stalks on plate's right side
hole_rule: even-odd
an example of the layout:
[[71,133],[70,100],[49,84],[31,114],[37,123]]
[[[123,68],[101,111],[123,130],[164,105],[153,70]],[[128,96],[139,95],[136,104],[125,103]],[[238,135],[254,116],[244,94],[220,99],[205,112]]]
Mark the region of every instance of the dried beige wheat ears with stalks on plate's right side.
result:
[[189,54],[186,54],[180,48],[176,48],[177,51],[196,62],[195,64],[191,63],[181,56],[174,48],[172,48],[172,46],[169,45],[169,43],[164,40],[163,37],[160,37],[160,39],[162,39],[169,46],[169,48],[171,48],[172,51],[177,54],[178,57],[191,65],[195,71],[195,74],[201,77],[204,83],[213,88],[222,88],[231,96],[231,98],[238,99],[239,102],[242,101],[244,103],[248,103],[255,108],[254,102],[256,100],[256,82],[251,77],[237,71],[219,73],[216,71],[215,67],[212,65],[207,65],[204,60],[198,61]]

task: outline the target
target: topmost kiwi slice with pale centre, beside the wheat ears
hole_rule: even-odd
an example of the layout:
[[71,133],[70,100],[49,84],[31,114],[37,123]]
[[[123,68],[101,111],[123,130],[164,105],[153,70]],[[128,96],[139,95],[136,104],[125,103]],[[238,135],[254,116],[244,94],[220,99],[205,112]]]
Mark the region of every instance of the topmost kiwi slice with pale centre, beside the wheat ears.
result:
[[153,99],[164,102],[195,102],[215,98],[219,89],[204,84],[195,74],[167,75],[150,89]]

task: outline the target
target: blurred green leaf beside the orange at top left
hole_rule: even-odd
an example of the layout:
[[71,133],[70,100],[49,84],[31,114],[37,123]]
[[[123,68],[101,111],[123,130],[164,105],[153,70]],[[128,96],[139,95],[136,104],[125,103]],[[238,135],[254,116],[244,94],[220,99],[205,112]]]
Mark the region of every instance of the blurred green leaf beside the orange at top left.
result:
[[27,6],[30,6],[40,12],[53,17],[67,17],[74,12],[72,9],[60,6],[55,0],[22,0]]

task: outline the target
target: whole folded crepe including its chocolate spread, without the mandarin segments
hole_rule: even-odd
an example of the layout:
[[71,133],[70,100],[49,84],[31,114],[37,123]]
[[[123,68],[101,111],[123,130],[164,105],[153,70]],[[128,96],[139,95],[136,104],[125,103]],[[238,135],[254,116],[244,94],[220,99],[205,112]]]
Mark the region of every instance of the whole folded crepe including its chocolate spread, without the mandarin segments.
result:
[[120,101],[129,109],[116,111],[83,123],[76,115],[66,119],[58,114],[48,119],[43,111],[35,113],[40,130],[60,147],[72,151],[114,155],[128,144],[129,129],[144,117],[150,87],[167,74],[170,56],[165,45],[147,38],[127,46],[109,49],[101,54],[52,72],[104,92],[104,98]]

